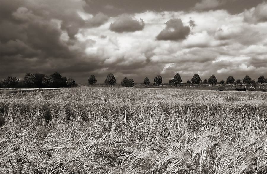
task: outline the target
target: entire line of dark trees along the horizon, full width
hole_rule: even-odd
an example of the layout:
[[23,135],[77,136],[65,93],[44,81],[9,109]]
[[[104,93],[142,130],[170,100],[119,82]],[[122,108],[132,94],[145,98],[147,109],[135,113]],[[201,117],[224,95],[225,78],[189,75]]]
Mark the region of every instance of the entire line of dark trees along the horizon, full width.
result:
[[[96,77],[92,74],[88,78],[88,84],[93,85],[97,82]],[[188,80],[186,83],[187,84],[200,84],[202,82],[200,76],[198,74],[194,74],[193,77],[191,78],[191,81]],[[210,78],[204,79],[203,84],[216,84],[217,78],[213,74],[210,76]],[[240,79],[235,80],[233,76],[228,76],[226,83],[227,84],[233,84],[234,82],[240,83]],[[260,76],[258,78],[258,83],[267,83],[267,79],[265,79],[264,76]],[[105,84],[109,85],[109,87],[112,87],[116,84],[116,78],[115,76],[110,73],[107,75],[105,79]],[[175,84],[176,87],[177,85],[181,86],[182,83],[182,78],[179,73],[176,73],[173,77],[173,79],[169,80],[170,84]],[[224,84],[225,81],[221,80],[220,84]],[[245,84],[251,84],[255,83],[254,80],[252,80],[248,75],[246,75],[243,78],[243,83]],[[145,77],[143,84],[147,86],[150,84],[150,80],[148,77]],[[157,75],[154,78],[154,84],[159,86],[162,84],[162,77],[160,75]],[[123,87],[134,87],[134,79],[128,79],[127,77],[124,77],[123,80],[121,81],[121,85]],[[75,83],[75,80],[71,77],[68,79],[66,77],[62,77],[60,73],[55,72],[50,75],[45,75],[45,74],[31,74],[31,73],[26,73],[23,80],[19,80],[16,77],[8,76],[7,78],[3,79],[0,81],[0,87],[1,88],[60,88],[60,87],[75,87],[77,84]]]

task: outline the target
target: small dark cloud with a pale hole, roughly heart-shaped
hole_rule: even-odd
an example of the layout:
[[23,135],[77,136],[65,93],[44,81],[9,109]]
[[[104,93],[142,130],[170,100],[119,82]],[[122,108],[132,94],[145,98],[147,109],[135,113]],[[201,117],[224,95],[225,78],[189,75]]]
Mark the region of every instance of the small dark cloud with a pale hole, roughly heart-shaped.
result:
[[183,40],[190,33],[190,27],[184,26],[181,19],[170,19],[165,24],[166,27],[160,31],[157,40]]

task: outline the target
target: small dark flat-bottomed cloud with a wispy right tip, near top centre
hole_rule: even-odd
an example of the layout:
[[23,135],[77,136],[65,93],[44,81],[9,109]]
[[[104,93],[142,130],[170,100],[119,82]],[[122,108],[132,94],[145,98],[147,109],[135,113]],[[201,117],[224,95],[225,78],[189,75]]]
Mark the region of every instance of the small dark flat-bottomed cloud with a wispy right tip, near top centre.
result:
[[139,22],[138,20],[134,20],[128,15],[122,15],[115,22],[110,24],[109,30],[114,31],[116,33],[134,32],[143,30],[144,25],[145,24],[142,19],[140,19]]

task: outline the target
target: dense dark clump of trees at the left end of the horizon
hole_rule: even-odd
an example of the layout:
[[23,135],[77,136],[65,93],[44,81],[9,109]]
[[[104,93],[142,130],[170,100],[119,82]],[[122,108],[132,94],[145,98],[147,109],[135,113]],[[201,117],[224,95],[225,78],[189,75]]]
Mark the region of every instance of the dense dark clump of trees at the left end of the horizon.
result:
[[23,80],[8,76],[0,82],[1,88],[60,88],[75,86],[77,84],[73,78],[67,79],[58,72],[50,75],[26,73]]

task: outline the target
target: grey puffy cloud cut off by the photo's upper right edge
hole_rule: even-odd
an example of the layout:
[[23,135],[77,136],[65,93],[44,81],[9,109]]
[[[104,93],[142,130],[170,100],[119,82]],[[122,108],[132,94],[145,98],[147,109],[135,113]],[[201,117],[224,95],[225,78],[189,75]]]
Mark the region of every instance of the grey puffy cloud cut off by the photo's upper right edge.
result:
[[258,4],[244,11],[244,21],[248,23],[259,23],[267,21],[267,2]]

